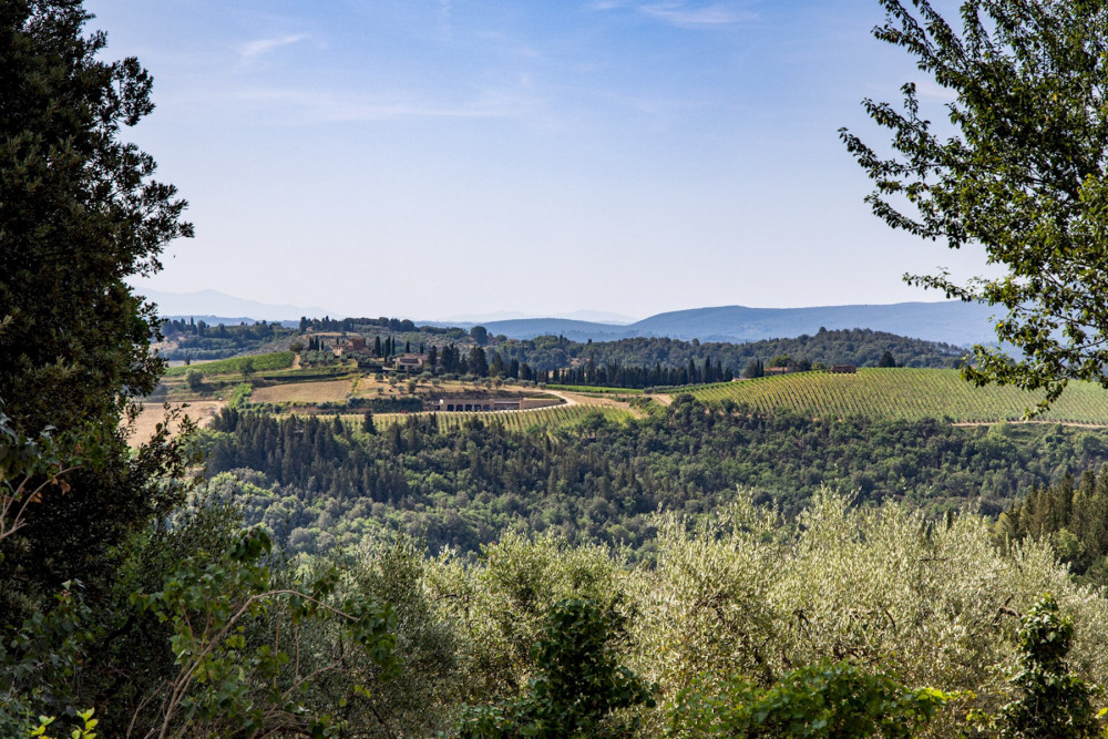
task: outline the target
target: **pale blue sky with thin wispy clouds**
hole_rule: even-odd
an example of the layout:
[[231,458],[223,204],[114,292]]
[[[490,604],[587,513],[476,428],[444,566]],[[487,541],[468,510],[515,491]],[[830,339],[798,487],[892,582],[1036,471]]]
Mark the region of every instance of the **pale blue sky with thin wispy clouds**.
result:
[[129,134],[196,225],[154,289],[644,317],[935,300],[901,275],[982,271],[862,203],[837,130],[879,142],[861,99],[920,79],[870,34],[876,0],[86,6],[153,73]]

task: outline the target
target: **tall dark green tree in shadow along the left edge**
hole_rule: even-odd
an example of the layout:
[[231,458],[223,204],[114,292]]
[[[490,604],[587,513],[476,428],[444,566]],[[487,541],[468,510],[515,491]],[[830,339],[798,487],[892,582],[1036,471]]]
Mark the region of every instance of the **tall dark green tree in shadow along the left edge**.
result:
[[154,482],[172,454],[132,454],[117,430],[163,369],[155,307],[125,280],[157,271],[193,229],[154,160],[122,138],[153,110],[151,76],[133,58],[104,61],[90,18],[71,0],[0,4],[0,398],[18,430],[81,429],[96,448],[4,543],[0,622],[103,574],[105,554],[178,494]]

